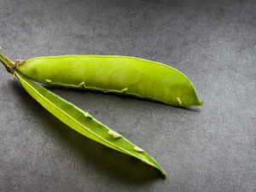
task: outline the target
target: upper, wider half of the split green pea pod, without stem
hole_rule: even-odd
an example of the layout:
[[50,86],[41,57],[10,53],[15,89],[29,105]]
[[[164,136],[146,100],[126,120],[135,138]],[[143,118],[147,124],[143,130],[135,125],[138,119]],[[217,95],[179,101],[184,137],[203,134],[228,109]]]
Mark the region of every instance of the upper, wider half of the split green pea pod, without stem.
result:
[[16,66],[28,79],[79,89],[143,97],[175,106],[201,106],[192,82],[165,64],[129,56],[37,57]]

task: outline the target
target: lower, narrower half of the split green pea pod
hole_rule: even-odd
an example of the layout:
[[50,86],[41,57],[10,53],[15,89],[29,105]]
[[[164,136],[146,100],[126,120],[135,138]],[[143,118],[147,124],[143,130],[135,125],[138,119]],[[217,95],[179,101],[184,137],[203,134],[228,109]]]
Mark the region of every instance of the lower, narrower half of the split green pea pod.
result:
[[119,135],[119,133],[112,131],[107,125],[103,125],[89,113],[77,108],[60,96],[56,96],[51,91],[32,82],[32,80],[26,79],[21,73],[15,72],[15,74],[20,79],[25,90],[37,102],[46,108],[49,113],[52,113],[56,118],[73,128],[73,130],[78,131],[85,137],[89,137],[98,143],[102,143],[108,148],[113,148],[124,154],[131,155],[142,160],[149,166],[154,166],[166,177],[164,169],[142,148],[137,147],[125,137]]

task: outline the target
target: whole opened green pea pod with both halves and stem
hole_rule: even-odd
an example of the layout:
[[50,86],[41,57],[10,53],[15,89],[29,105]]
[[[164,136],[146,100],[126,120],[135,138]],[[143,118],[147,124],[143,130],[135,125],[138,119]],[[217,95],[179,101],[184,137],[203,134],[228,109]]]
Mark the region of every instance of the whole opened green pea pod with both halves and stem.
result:
[[103,125],[44,84],[102,90],[143,97],[176,106],[200,106],[194,85],[181,72],[159,62],[128,56],[63,55],[12,62],[0,53],[0,61],[20,79],[25,90],[50,113],[85,137],[154,166],[163,168],[143,148]]

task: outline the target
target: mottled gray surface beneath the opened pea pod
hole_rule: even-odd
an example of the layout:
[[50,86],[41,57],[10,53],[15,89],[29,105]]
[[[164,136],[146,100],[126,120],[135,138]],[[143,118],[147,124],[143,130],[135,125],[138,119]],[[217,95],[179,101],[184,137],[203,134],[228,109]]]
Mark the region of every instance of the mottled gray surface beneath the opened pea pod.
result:
[[164,180],[63,125],[0,67],[0,191],[256,191],[255,10],[255,1],[1,0],[10,58],[160,61],[185,73],[205,105],[49,87],[145,148]]

